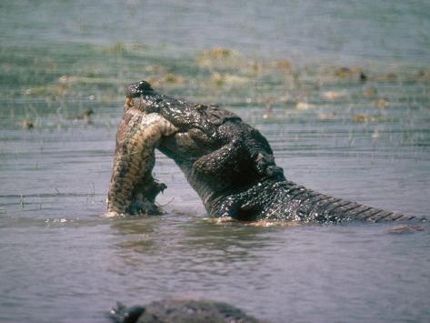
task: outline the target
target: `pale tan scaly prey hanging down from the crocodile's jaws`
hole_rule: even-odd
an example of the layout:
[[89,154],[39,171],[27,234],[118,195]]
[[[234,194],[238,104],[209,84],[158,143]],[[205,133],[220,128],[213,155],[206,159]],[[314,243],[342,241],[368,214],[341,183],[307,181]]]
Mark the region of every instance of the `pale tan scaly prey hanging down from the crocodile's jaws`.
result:
[[125,103],[125,113],[116,133],[114,167],[107,193],[107,216],[159,213],[156,195],[165,189],[152,176],[155,146],[162,136],[177,128],[163,116],[145,114]]

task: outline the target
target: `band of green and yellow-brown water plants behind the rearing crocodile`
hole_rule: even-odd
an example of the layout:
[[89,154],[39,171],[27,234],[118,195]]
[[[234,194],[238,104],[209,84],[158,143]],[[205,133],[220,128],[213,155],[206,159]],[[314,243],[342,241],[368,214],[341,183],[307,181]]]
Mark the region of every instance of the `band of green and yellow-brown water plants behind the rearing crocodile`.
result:
[[[13,55],[16,52],[19,56]],[[325,106],[339,110],[360,107],[364,110],[358,114],[369,115],[372,109],[398,107],[402,102],[425,108],[426,80],[430,75],[425,68],[298,65],[292,59],[245,56],[226,47],[190,51],[175,57],[160,53],[156,47],[125,43],[61,45],[55,51],[38,46],[18,51],[6,46],[0,51],[0,71],[7,80],[0,88],[1,95],[10,115],[25,112],[22,107],[19,107],[21,112],[17,110],[16,101],[45,102],[45,106],[38,105],[36,110],[48,113],[53,121],[40,119],[38,126],[43,127],[46,122],[54,123],[54,118],[60,120],[58,116],[64,116],[64,122],[88,107],[94,108],[80,104],[79,111],[74,111],[69,102],[120,102],[124,86],[145,76],[154,86],[161,89],[165,86],[172,94],[192,96],[203,102],[282,107],[301,113],[315,110],[315,118],[325,119],[329,117],[322,110]],[[106,66],[105,62],[109,64]],[[35,73],[29,75],[25,68],[35,68]],[[365,86],[361,82],[364,74]],[[262,111],[261,118],[269,121],[273,116]]]

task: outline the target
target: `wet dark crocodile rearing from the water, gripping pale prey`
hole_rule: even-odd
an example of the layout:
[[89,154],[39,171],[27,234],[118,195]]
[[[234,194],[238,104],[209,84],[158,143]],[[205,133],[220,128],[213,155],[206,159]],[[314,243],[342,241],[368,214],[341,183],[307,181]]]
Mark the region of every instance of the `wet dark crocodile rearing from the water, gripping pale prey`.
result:
[[175,160],[212,217],[302,222],[416,218],[329,197],[286,180],[265,137],[228,110],[159,95],[145,81],[129,86],[127,96],[140,96],[145,113],[157,113],[178,128],[157,148]]

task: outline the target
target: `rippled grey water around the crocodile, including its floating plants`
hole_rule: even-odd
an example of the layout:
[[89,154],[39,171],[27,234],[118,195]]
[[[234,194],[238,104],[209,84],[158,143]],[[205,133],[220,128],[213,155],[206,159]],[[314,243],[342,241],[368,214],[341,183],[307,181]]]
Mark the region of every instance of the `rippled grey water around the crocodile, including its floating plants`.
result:
[[174,296],[224,300],[273,322],[428,320],[426,226],[395,235],[395,224],[215,224],[160,154],[166,215],[99,215],[124,86],[145,78],[233,109],[295,182],[429,217],[429,9],[2,2],[0,321],[106,322],[117,300]]

